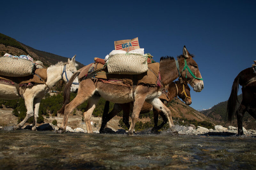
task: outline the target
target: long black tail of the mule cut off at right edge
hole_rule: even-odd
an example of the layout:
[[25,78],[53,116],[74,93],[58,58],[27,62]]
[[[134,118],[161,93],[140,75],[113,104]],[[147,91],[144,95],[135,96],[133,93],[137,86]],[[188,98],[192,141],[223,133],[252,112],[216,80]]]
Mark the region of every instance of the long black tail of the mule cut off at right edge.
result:
[[237,92],[239,88],[239,78],[240,78],[240,73],[236,76],[233,82],[231,94],[228,99],[227,113],[228,113],[228,121],[230,122],[234,119],[234,114],[236,111],[236,103],[238,101]]

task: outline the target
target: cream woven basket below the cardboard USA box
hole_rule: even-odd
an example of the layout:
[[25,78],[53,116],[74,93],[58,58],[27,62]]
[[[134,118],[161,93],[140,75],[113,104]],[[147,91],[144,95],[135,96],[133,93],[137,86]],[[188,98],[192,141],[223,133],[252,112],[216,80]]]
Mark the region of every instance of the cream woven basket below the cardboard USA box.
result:
[[148,71],[147,57],[140,54],[116,54],[108,59],[108,74],[141,74]]

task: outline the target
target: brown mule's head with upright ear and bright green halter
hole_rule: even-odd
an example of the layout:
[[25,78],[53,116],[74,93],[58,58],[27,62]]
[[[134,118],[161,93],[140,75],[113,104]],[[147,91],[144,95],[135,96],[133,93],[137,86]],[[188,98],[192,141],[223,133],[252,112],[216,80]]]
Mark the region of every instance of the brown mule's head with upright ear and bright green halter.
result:
[[188,82],[193,87],[195,92],[201,92],[204,88],[203,78],[198,69],[198,65],[193,59],[193,55],[190,55],[186,46],[183,47],[183,55],[180,58],[184,58],[180,64],[181,77],[185,82]]

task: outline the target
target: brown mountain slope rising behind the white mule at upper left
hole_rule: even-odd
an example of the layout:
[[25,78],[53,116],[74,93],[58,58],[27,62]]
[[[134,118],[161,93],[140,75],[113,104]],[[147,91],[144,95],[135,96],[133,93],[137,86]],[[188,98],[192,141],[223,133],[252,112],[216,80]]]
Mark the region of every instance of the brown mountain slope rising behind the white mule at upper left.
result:
[[[40,60],[44,63],[44,66],[49,67],[50,65],[54,65],[59,61],[67,62],[67,57],[62,57],[60,55],[55,55],[52,53],[40,51],[29,47],[7,35],[0,33],[0,55],[3,56],[5,53],[9,53],[11,55],[30,55],[34,60]],[[73,56],[70,56],[73,57]],[[84,66],[84,64],[79,63],[78,68],[80,69]]]

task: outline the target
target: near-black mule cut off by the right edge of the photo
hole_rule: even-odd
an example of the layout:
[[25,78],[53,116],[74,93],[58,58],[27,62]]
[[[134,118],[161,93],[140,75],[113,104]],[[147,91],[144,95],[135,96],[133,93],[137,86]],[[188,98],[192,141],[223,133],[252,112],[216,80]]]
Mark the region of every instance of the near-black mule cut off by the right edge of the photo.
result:
[[[239,85],[242,86],[243,99],[236,110],[237,91]],[[253,67],[241,71],[235,78],[232,85],[230,97],[228,99],[227,113],[228,120],[231,122],[234,118],[236,110],[238,135],[243,135],[243,117],[247,111],[254,119],[256,119],[256,73]]]

